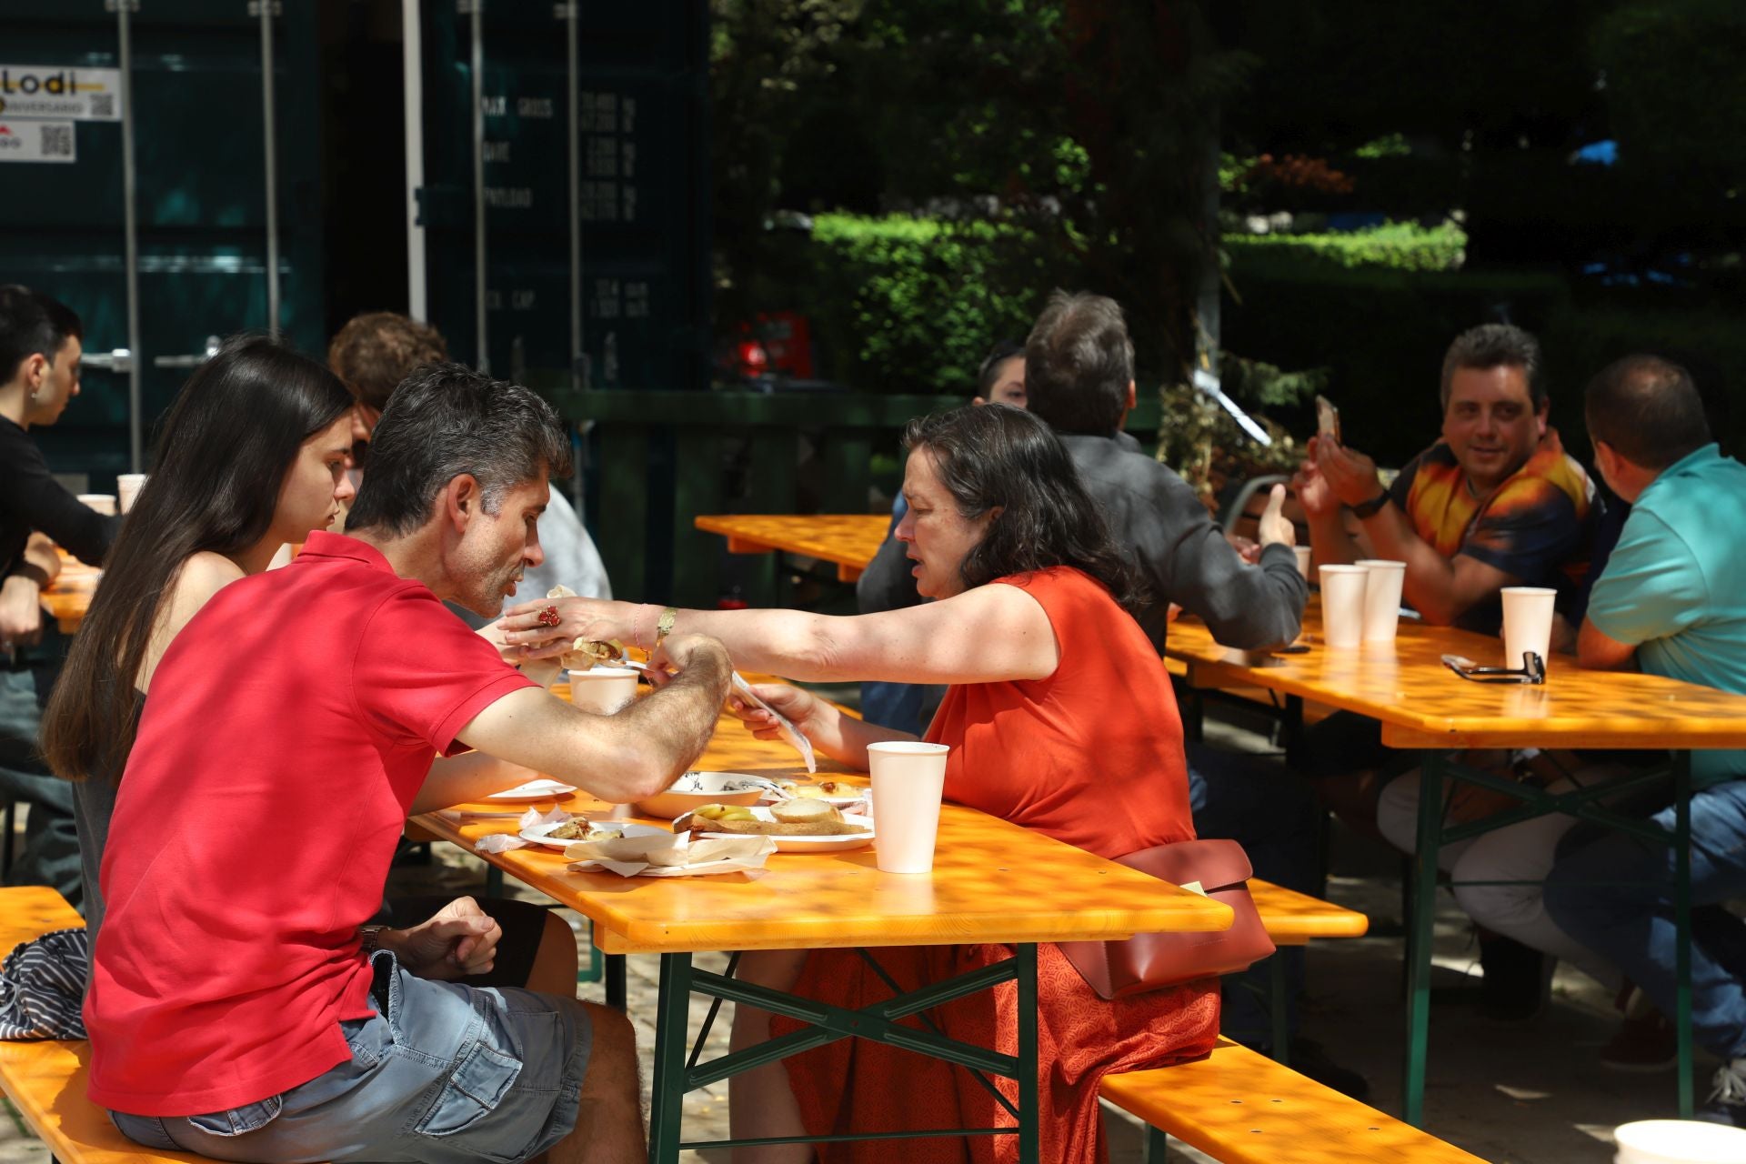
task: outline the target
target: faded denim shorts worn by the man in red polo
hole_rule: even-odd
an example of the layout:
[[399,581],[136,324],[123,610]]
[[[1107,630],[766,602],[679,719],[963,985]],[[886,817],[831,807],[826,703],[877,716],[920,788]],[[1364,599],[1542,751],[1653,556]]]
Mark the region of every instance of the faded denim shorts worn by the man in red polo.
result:
[[129,1140],[218,1161],[512,1164],[571,1133],[592,1028],[573,998],[470,988],[374,955],[377,1014],[340,1023],[351,1061],[229,1112],[113,1112]]

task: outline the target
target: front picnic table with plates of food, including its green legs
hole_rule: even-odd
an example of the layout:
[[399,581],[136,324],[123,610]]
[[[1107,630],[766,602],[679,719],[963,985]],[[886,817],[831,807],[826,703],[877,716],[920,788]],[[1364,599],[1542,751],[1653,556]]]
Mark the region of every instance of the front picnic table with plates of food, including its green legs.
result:
[[[697,766],[784,778],[803,775],[793,750],[754,740],[728,716],[723,716],[716,742]],[[822,768],[840,773],[835,764]],[[601,813],[606,805],[578,794],[564,808],[573,813]],[[501,811],[501,806],[457,806],[416,820],[428,832],[468,848],[487,832],[515,831],[513,820],[468,817],[468,811]],[[1035,1162],[1035,944],[1123,939],[1142,932],[1219,930],[1231,923],[1229,909],[1219,902],[960,805],[941,808],[934,871],[927,874],[880,873],[871,848],[773,853],[758,876],[711,878],[571,873],[564,855],[550,848],[522,848],[484,859],[585,914],[594,921],[601,949],[662,956],[650,1161],[663,1164],[677,1161],[681,1148],[721,1147],[679,1141],[684,1092],[751,1066],[744,1058],[732,1056],[733,1061],[686,1063],[693,993],[749,1002],[812,1023],[817,1030],[803,1033],[807,1047],[847,1037],[901,1042],[922,1054],[1016,1078],[1020,1159]],[[691,955],[700,951],[959,942],[1009,942],[1016,953],[1006,963],[964,976],[945,988],[934,984],[920,991],[915,1003],[894,1000],[868,1010],[824,1007],[691,965]],[[1000,1056],[986,1047],[969,1047],[896,1023],[920,1005],[988,989],[1004,981],[1016,981],[1020,989],[1016,1056]],[[791,1052],[800,1049],[794,1045]]]

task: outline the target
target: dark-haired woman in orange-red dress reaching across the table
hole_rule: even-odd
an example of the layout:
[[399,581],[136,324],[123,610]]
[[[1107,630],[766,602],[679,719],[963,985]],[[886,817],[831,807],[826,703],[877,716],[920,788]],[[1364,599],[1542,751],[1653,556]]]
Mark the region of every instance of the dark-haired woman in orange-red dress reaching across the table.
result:
[[[1037,829],[1102,857],[1194,836],[1182,722],[1163,663],[1123,609],[1135,574],[1049,428],[1006,405],[959,408],[910,424],[896,536],[915,562],[915,607],[829,618],[801,611],[677,611],[627,602],[559,600],[560,623],[517,607],[506,640],[529,654],[576,637],[651,646],[669,630],[716,635],[735,663],[803,681],[883,679],[952,684],[927,740],[950,743],[946,799]],[[866,768],[866,749],[915,738],[842,714],[791,686],[758,695],[819,750]],[[773,736],[763,712],[744,712]],[[868,951],[899,988],[917,989],[1009,956],[1002,946],[910,946]],[[859,951],[756,951],[740,977],[843,1007],[890,989]],[[1102,1000],[1056,946],[1037,951],[1042,1157],[1100,1159],[1096,1080],[1107,1072],[1166,1066],[1212,1047],[1219,986],[1205,979]],[[1013,1052],[1016,989],[1006,986],[936,1009],[946,1035]],[[735,1049],[794,1030],[740,1007]],[[744,1082],[742,1082],[744,1080]],[[993,1127],[997,1101],[952,1066],[883,1044],[840,1040],[735,1077],[735,1138],[779,1138],[929,1127]],[[740,1150],[735,1161],[808,1161],[814,1145]],[[878,1161],[878,1143],[817,1145],[819,1157]],[[1009,1159],[1014,1136],[915,1140],[922,1161]]]

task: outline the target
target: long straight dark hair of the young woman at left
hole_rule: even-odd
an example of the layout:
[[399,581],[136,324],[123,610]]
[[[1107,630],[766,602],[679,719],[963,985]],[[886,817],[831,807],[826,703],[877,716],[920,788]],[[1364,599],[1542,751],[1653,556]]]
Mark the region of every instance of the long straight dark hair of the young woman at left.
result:
[[333,373],[260,335],[227,342],[182,387],[42,717],[56,775],[120,780],[140,705],[134,675],[182,565],[265,537],[302,443],[349,407]]

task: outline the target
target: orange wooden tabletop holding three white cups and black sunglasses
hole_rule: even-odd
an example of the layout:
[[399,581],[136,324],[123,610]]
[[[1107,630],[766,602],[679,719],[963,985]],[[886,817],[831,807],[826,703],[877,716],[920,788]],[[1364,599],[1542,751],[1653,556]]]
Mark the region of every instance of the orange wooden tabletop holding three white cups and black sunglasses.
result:
[[1301,642],[1303,654],[1252,656],[1177,620],[1165,654],[1187,663],[1198,688],[1250,684],[1378,719],[1390,747],[1746,747],[1746,696],[1676,679],[1582,670],[1554,654],[1545,684],[1470,682],[1442,656],[1498,667],[1502,640],[1402,618],[1392,644],[1336,649],[1322,639],[1316,602]]

